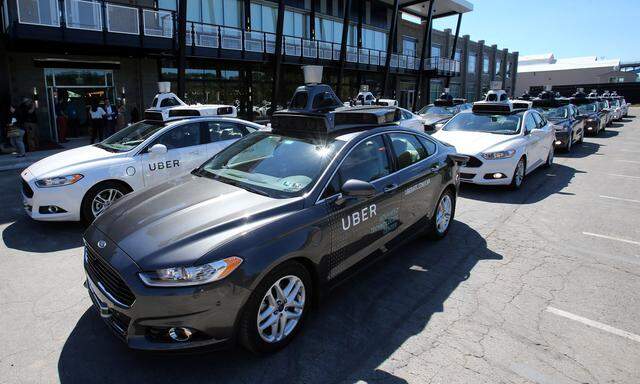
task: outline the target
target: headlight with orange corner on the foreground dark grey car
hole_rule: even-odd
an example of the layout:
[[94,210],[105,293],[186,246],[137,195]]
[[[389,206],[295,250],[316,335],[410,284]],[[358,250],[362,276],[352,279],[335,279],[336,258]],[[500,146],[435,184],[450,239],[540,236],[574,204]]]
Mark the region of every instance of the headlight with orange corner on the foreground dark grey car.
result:
[[158,269],[153,272],[140,272],[143,283],[151,287],[186,287],[207,284],[229,276],[242,264],[236,256],[203,264],[196,267],[176,267]]

